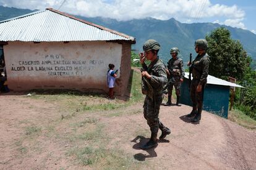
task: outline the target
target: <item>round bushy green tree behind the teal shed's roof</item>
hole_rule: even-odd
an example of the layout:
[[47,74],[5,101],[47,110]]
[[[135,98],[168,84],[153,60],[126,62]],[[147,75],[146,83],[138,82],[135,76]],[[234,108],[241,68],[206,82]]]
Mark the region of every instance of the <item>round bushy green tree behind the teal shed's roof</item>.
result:
[[216,28],[206,39],[211,60],[210,75],[222,79],[231,76],[241,81],[251,62],[241,42],[231,39],[230,31],[224,27]]

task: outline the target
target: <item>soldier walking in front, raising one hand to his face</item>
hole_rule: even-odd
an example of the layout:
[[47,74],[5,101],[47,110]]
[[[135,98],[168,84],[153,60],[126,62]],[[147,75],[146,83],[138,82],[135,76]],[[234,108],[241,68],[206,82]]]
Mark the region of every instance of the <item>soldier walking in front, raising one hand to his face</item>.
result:
[[[150,126],[151,137],[147,144],[142,146],[142,149],[147,150],[157,146],[156,137],[158,128],[162,131],[159,139],[164,139],[171,133],[168,127],[165,127],[160,122],[158,115],[160,105],[163,101],[163,86],[167,83],[166,70],[164,63],[158,57],[160,44],[154,39],[149,39],[143,45],[144,53],[140,53],[140,63],[142,63],[143,71],[142,77],[147,79],[153,94],[147,94],[143,105],[144,118],[147,119],[148,126]],[[145,64],[145,59],[150,60],[150,65]]]

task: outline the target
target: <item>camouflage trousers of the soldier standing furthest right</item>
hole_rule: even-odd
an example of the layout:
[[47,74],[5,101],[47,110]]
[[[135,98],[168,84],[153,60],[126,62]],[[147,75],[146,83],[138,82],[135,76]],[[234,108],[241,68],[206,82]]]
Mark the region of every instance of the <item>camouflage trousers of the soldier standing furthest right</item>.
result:
[[200,79],[192,79],[190,86],[190,99],[192,100],[193,108],[202,109],[203,108],[203,91],[205,89],[205,84],[202,84],[202,91],[197,92],[197,86]]

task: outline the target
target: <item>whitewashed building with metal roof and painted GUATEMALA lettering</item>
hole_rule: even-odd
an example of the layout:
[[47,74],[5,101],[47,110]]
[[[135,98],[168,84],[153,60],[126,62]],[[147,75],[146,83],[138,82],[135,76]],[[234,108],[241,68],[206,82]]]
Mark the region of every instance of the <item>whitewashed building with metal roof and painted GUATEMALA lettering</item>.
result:
[[117,95],[130,76],[135,38],[54,9],[0,22],[0,46],[11,91],[73,89],[107,92],[109,63],[118,69]]

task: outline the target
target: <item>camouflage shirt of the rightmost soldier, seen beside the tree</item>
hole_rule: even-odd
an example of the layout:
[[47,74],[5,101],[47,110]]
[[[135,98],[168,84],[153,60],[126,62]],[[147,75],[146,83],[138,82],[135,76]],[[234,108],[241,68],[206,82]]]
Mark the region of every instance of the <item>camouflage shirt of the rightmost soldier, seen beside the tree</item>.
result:
[[192,76],[195,79],[200,79],[199,84],[207,83],[209,63],[210,56],[207,53],[203,55],[197,55],[195,60],[192,62]]

